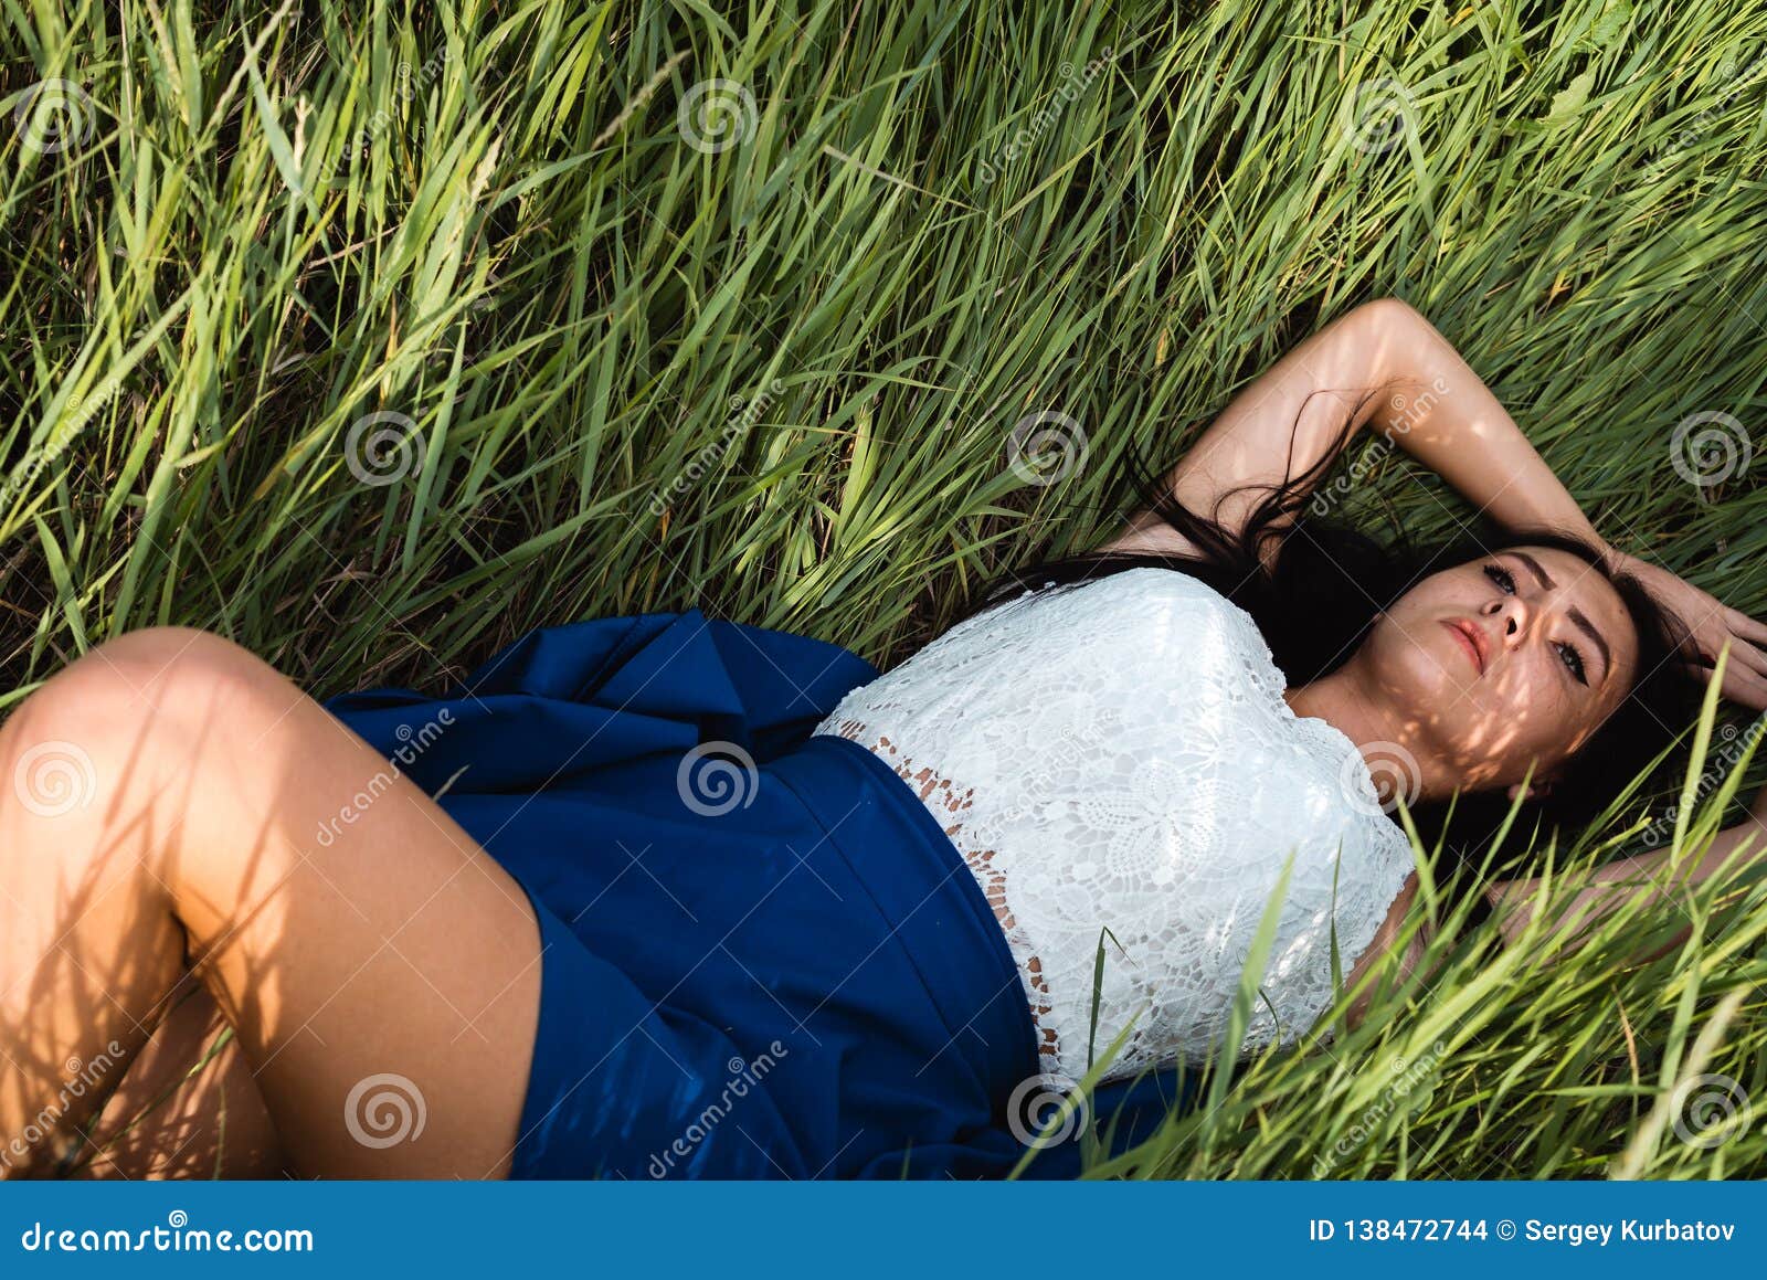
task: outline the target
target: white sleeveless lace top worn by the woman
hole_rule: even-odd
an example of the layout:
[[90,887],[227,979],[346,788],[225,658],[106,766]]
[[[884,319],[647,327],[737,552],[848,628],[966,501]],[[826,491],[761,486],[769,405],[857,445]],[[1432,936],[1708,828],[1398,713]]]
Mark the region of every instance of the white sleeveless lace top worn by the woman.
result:
[[1311,1027],[1334,997],[1332,919],[1348,974],[1410,875],[1355,744],[1285,688],[1249,613],[1186,573],[1127,569],[965,619],[815,732],[876,751],[945,827],[1066,1089],[1088,1040],[1103,1057],[1131,1022],[1104,1078],[1214,1052],[1292,849],[1242,1052]]

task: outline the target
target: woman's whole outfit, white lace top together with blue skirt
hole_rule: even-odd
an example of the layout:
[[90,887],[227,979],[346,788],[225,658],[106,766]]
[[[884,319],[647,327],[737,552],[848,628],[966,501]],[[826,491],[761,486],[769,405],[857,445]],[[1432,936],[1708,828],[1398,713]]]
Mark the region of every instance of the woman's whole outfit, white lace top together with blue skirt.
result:
[[534,631],[444,698],[329,709],[534,903],[512,1176],[1030,1156],[1021,1176],[1064,1177],[1083,1144],[1050,1091],[1120,1038],[1085,1110],[1104,1146],[1187,1105],[1285,866],[1256,974],[1276,1015],[1258,1001],[1240,1048],[1311,1027],[1332,928],[1348,971],[1414,866],[1361,755],[1283,686],[1249,615],[1133,569],[967,619],[887,675],[687,610]]

